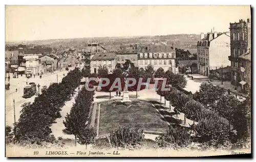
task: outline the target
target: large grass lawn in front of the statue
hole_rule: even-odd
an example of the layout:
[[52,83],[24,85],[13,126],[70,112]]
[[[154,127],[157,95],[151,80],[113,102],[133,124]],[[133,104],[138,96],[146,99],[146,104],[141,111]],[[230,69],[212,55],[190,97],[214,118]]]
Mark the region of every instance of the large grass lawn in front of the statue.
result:
[[161,119],[160,114],[150,102],[132,100],[128,105],[120,101],[102,103],[99,135],[110,133],[120,125],[160,132],[168,128],[167,123]]

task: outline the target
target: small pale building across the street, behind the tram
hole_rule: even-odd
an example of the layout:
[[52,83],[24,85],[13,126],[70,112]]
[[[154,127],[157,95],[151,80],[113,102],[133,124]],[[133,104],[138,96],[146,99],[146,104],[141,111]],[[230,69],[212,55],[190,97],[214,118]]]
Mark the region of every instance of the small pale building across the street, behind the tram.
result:
[[36,75],[41,72],[41,64],[39,64],[37,55],[25,54],[23,58],[26,60],[25,74]]

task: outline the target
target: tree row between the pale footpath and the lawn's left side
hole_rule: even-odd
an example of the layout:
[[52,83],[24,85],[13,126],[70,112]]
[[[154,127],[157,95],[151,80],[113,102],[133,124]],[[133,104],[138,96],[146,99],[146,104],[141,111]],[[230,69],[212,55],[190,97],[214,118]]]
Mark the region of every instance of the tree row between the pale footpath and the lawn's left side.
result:
[[[93,85],[90,84],[89,87],[92,88]],[[66,127],[63,129],[63,133],[75,135],[75,143],[78,138],[78,143],[86,145],[86,147],[93,143],[96,136],[94,128],[89,127],[94,94],[94,91],[88,91],[83,86],[75,97],[75,103],[73,103],[70,113],[67,113],[65,121],[63,121]]]

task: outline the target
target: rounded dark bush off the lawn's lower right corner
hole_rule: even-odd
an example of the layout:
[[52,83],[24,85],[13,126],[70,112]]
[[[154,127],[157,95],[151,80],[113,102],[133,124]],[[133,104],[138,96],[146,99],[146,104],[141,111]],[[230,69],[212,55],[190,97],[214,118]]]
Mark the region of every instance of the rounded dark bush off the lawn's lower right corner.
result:
[[160,147],[180,149],[186,148],[192,141],[187,128],[180,125],[172,125],[169,126],[165,133],[156,137],[156,142]]

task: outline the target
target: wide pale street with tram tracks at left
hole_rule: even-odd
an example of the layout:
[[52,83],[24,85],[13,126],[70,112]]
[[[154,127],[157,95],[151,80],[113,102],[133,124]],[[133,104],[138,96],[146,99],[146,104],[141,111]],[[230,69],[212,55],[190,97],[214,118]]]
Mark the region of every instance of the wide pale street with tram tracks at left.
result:
[[[82,67],[82,65],[81,65]],[[74,70],[75,67],[70,67],[70,70]],[[15,118],[16,122],[19,119],[20,110],[22,110],[22,105],[26,102],[34,102],[34,99],[37,95],[32,96],[31,98],[23,98],[23,88],[26,86],[26,82],[34,82],[36,85],[40,85],[40,90],[42,86],[49,86],[51,83],[57,82],[58,75],[58,83],[61,82],[62,78],[67,76],[68,72],[65,69],[62,71],[55,71],[53,74],[48,73],[42,75],[40,79],[39,76],[35,76],[35,78],[30,78],[29,80],[25,75],[22,77],[19,75],[18,78],[12,78],[12,74],[10,74],[10,89],[6,90],[6,125],[12,126],[14,123],[14,106],[15,106]],[[65,74],[65,76],[63,76]],[[16,92],[17,88],[17,92]],[[36,90],[38,92],[38,87],[36,86]],[[13,105],[13,100],[15,104]]]

